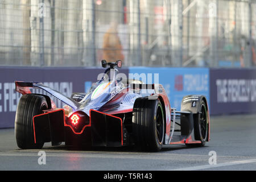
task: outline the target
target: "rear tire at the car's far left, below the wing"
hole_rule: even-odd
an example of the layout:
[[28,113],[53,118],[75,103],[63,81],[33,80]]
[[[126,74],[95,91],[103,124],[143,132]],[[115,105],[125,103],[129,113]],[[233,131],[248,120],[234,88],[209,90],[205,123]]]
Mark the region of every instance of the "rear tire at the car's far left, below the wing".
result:
[[25,94],[20,97],[15,117],[15,138],[19,148],[42,148],[44,142],[34,142],[34,115],[42,114],[48,109],[44,96]]

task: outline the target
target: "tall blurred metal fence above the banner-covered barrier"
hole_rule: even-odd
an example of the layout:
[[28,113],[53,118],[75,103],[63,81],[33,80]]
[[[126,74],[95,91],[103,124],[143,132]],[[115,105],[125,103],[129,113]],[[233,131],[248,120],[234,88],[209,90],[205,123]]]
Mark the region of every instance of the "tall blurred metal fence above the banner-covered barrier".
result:
[[256,0],[0,0],[0,65],[252,67]]

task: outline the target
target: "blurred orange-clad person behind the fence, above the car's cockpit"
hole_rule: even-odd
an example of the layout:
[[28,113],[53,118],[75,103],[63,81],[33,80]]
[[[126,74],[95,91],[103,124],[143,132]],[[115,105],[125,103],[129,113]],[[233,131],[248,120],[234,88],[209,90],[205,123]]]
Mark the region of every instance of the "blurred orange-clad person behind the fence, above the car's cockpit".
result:
[[118,36],[118,24],[117,22],[112,22],[110,24],[109,30],[105,33],[103,37],[103,56],[108,62],[113,62],[116,60],[124,60],[122,53],[122,45]]

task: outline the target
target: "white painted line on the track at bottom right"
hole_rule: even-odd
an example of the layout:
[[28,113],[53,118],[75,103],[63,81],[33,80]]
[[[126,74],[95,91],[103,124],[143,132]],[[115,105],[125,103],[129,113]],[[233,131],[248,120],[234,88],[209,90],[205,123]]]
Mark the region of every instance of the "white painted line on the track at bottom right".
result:
[[224,166],[233,166],[233,165],[238,165],[238,164],[248,164],[248,163],[255,163],[255,162],[256,162],[256,159],[237,160],[237,161],[233,161],[233,162],[220,163],[220,164],[212,164],[212,165],[208,164],[208,165],[203,165],[203,166],[171,169],[170,171],[195,171],[195,170],[201,170],[201,169],[209,169],[209,168],[224,167]]

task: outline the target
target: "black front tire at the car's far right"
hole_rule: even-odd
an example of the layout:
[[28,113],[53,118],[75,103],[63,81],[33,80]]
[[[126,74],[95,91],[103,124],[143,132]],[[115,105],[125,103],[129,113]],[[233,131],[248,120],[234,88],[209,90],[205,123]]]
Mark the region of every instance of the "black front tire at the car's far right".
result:
[[194,130],[195,130],[195,139],[200,140],[201,143],[196,144],[187,144],[187,146],[191,147],[203,147],[207,142],[209,128],[208,128],[208,108],[207,104],[204,100],[200,101],[199,107],[199,118],[197,118],[194,122]]

